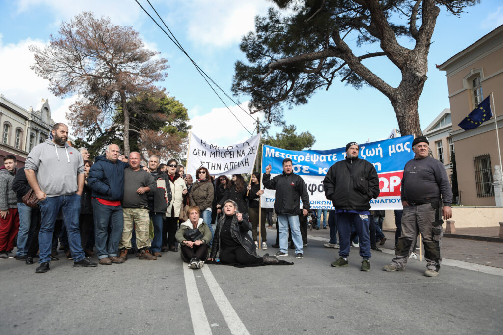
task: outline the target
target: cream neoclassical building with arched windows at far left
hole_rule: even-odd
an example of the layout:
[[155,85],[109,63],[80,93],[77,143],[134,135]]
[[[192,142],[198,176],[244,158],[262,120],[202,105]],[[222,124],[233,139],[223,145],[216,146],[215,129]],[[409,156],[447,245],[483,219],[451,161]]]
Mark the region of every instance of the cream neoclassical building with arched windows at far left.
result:
[[53,124],[47,99],[41,99],[35,110],[26,110],[0,94],[0,164],[6,155],[14,155],[18,167],[23,167],[28,153],[48,138]]

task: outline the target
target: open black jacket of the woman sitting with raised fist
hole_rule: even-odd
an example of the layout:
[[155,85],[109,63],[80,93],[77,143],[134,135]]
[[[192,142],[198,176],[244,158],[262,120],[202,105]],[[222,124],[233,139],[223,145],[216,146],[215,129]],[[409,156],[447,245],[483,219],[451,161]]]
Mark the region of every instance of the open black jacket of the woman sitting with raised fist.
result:
[[[227,216],[223,215],[222,218],[217,222],[217,227],[215,228],[215,235],[213,236],[213,242],[211,246],[210,258],[215,258],[222,252],[222,245],[220,244],[220,230],[225,224],[226,219]],[[257,247],[255,246],[255,242],[248,235],[248,231],[250,229],[251,227],[248,222],[248,215],[243,214],[243,220],[241,222],[237,220],[236,214],[232,216],[232,222],[230,224],[230,234],[232,238],[234,239],[234,241],[239,243],[248,254],[259,258],[259,256],[257,256]]]

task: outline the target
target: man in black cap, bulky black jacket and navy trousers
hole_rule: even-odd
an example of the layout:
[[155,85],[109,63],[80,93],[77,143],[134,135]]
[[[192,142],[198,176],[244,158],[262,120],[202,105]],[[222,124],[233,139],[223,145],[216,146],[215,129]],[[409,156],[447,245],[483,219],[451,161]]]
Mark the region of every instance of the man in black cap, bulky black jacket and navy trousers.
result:
[[340,257],[330,265],[336,268],[348,266],[353,224],[360,240],[360,270],[370,271],[370,199],[379,195],[379,177],[374,165],[358,158],[359,150],[358,143],[348,143],[346,159],[330,166],[323,179],[325,196],[336,208],[337,229],[340,234]]

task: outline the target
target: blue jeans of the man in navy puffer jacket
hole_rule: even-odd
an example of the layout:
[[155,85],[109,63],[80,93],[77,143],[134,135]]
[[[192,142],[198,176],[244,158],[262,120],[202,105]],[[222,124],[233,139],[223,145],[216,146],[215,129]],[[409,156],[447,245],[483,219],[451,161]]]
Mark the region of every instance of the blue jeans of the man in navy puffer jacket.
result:
[[[93,199],[93,215],[95,221],[95,243],[98,259],[117,256],[119,242],[124,229],[122,206],[110,206]],[[110,225],[110,236],[108,226]],[[108,238],[108,244],[107,244]]]

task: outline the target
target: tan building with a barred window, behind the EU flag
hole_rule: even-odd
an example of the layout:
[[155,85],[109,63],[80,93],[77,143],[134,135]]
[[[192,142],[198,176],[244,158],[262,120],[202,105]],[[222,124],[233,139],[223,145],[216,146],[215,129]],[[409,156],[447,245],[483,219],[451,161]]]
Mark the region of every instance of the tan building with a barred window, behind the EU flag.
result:
[[[497,148],[503,146],[503,25],[438,68],[446,71],[449,88],[460,202],[494,206],[494,166],[500,164]],[[461,129],[461,120],[489,94],[496,107],[491,101],[493,117],[475,129]]]

